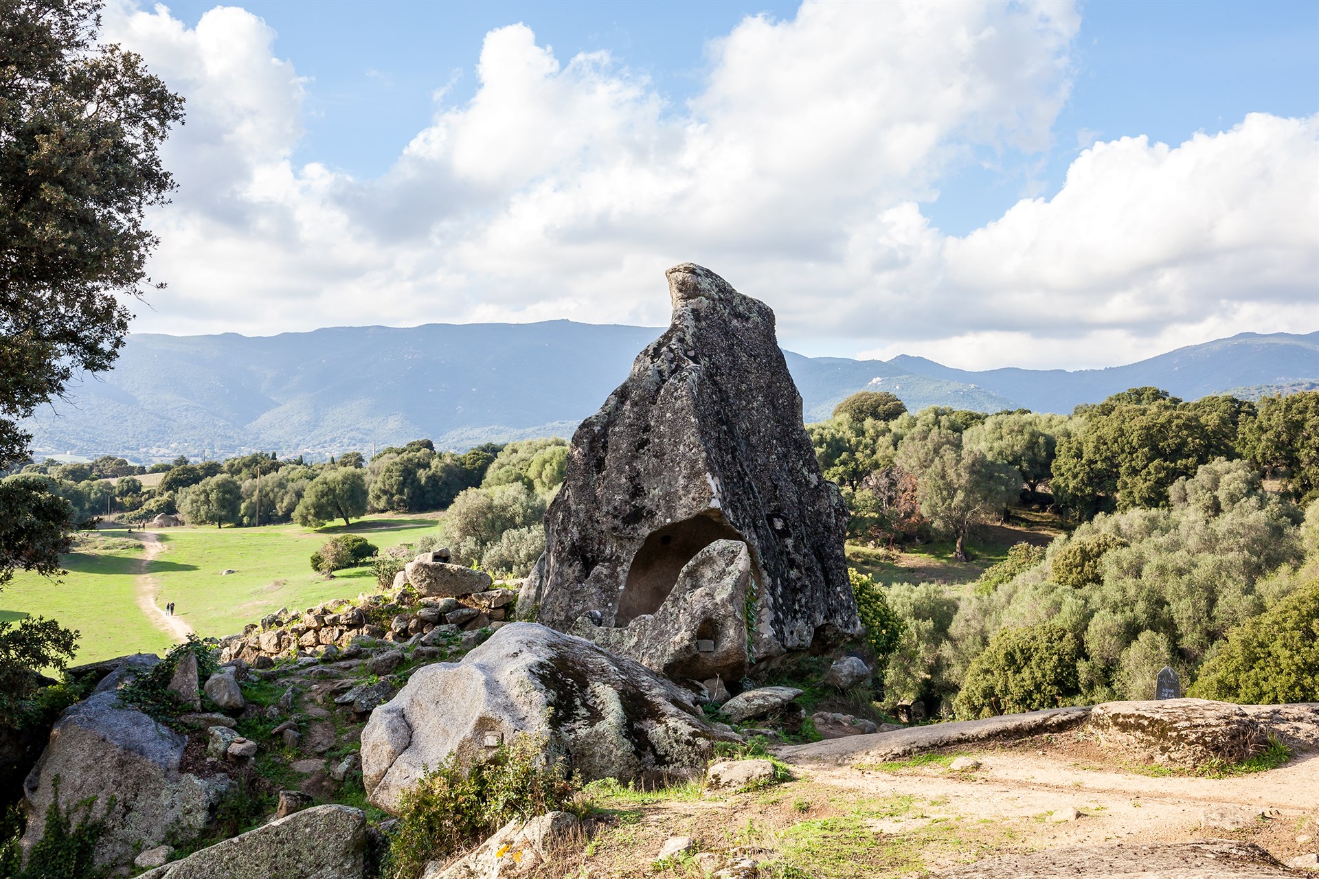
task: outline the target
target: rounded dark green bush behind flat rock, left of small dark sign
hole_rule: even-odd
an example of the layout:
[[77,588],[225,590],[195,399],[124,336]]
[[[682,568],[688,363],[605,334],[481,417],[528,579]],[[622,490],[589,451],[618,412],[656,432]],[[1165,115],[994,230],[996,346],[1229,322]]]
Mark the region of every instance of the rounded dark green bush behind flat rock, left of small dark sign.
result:
[[1004,629],[967,669],[959,718],[1058,708],[1080,695],[1076,638],[1055,623]]

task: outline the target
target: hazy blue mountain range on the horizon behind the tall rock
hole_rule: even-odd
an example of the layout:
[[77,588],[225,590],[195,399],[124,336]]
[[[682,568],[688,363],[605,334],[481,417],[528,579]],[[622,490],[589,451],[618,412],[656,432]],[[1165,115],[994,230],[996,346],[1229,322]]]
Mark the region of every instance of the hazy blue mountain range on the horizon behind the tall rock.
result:
[[[648,327],[426,324],[331,327],[248,337],[137,333],[109,373],[26,424],[37,455],[136,460],[368,452],[429,436],[439,448],[571,435],[660,335]],[[1187,399],[1319,376],[1319,332],[1242,333],[1111,369],[968,372],[922,357],[889,361],[785,352],[806,420],[857,390],[888,390],[913,411],[1028,407],[1068,412],[1126,387]]]

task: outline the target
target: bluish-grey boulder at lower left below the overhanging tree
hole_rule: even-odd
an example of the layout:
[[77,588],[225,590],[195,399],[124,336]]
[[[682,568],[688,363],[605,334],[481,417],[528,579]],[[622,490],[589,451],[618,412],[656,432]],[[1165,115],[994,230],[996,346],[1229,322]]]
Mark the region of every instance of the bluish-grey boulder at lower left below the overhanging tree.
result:
[[96,797],[92,813],[108,818],[108,830],[96,843],[96,863],[132,863],[138,850],[158,846],[166,837],[197,836],[230,779],[181,772],[185,745],[178,733],[121,705],[116,692],[71,706],[24,783],[24,851],[45,833],[57,778],[61,808]]

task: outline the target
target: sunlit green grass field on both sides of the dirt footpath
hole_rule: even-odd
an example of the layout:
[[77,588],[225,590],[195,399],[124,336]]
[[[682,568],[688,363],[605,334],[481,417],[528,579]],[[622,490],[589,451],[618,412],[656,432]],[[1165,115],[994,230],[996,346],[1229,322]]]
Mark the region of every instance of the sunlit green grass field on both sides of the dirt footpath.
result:
[[[340,571],[332,580],[313,573],[307,559],[328,538],[360,534],[381,550],[434,534],[434,515],[375,515],[351,527],[319,530],[295,525],[261,528],[170,528],[157,532],[164,551],[145,563],[157,604],[175,602],[199,635],[230,635],[272,610],[302,609],[327,598],[373,592],[369,567]],[[136,532],[135,532],[136,534]],[[99,535],[128,538],[123,528]],[[112,543],[120,543],[113,540]],[[65,556],[58,582],[18,573],[0,592],[0,621],[44,615],[82,633],[77,663],[135,651],[160,652],[171,639],[138,609],[136,590],[142,550],[113,548]],[[236,573],[222,576],[231,568]]]

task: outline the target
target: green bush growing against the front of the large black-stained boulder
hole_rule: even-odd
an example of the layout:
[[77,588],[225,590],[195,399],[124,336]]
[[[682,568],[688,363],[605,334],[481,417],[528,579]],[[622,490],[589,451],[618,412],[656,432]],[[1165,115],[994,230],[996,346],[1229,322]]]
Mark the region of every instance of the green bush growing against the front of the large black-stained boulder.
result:
[[415,879],[427,862],[514,818],[563,809],[574,793],[563,762],[541,737],[518,735],[470,770],[450,755],[400,797],[398,830],[380,875]]

